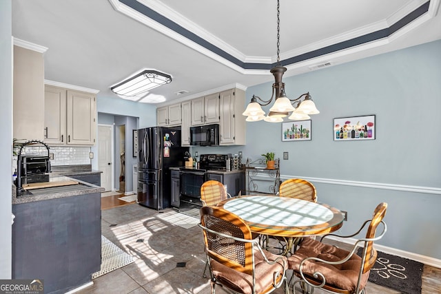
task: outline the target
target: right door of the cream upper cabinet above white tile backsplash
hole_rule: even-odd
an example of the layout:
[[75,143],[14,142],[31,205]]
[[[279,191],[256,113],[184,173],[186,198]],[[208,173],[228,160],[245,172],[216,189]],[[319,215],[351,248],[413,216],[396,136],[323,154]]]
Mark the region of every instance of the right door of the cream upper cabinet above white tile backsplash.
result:
[[95,95],[68,90],[67,144],[94,145],[96,138]]

